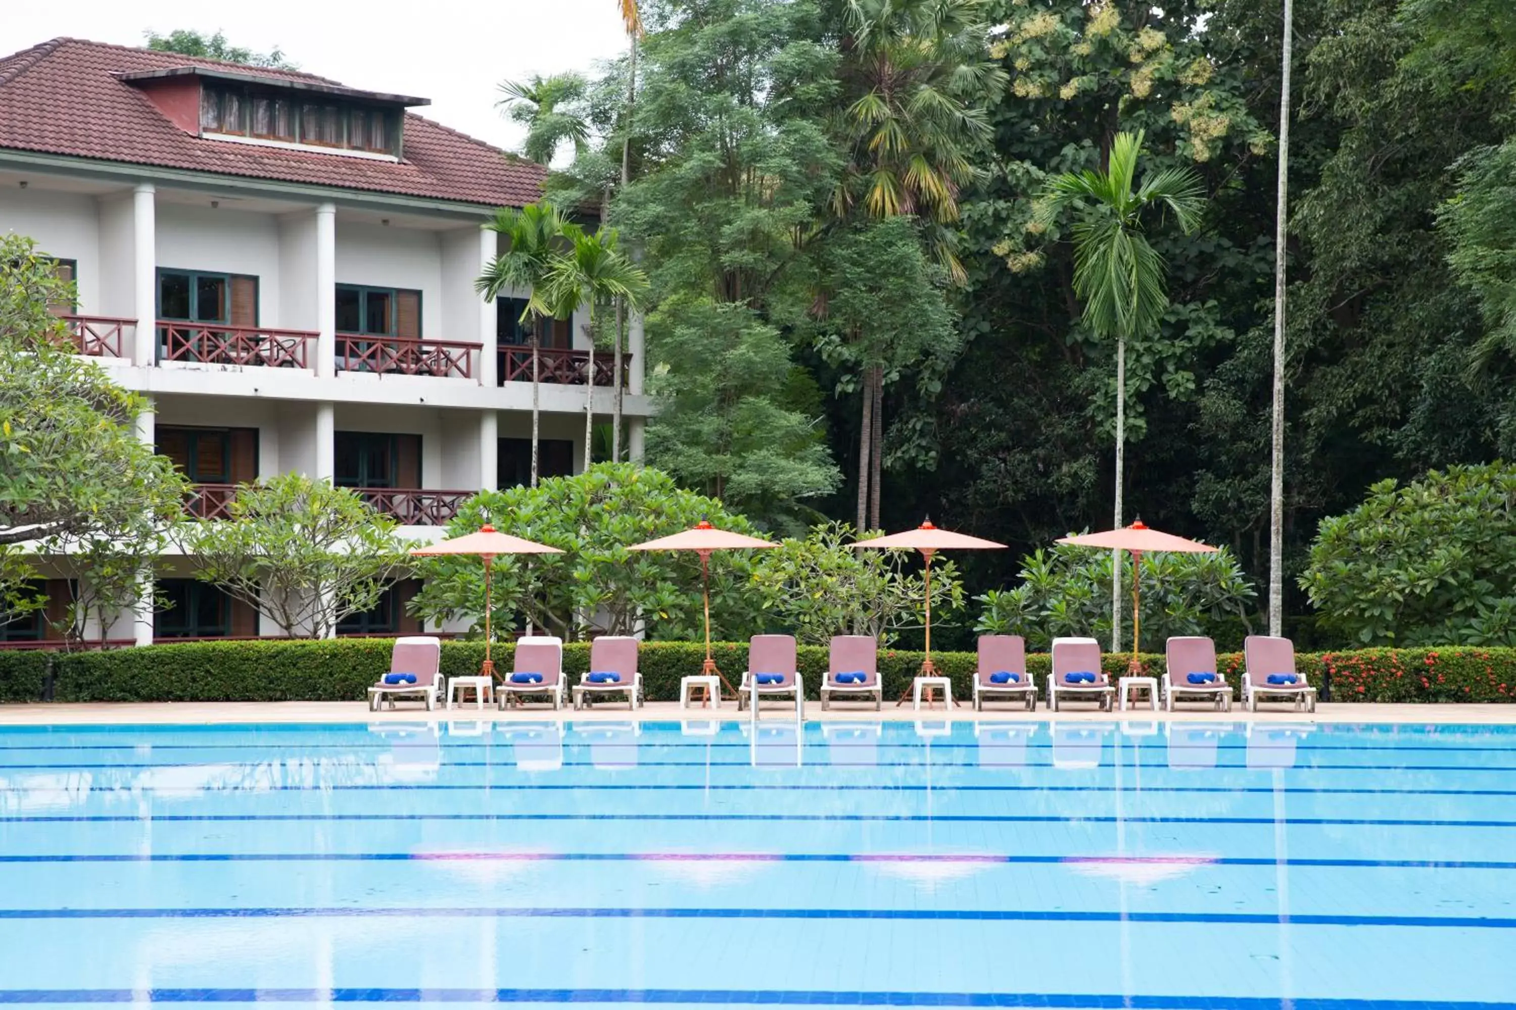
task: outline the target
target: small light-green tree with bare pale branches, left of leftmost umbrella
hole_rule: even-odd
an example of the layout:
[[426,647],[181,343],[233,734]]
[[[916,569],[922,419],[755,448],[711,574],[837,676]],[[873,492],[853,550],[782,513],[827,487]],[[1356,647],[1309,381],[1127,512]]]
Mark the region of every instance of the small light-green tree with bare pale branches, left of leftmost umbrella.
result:
[[186,522],[196,578],[256,609],[291,637],[330,637],[411,568],[396,521],[347,488],[303,474],[243,485],[230,519]]

